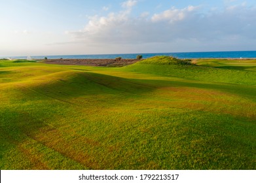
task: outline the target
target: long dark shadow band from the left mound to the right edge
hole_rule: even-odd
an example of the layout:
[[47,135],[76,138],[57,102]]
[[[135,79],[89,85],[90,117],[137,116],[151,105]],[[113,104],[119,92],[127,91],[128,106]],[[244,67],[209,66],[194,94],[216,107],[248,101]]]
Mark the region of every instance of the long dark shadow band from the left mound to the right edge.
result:
[[236,95],[242,95],[256,101],[256,87],[242,84],[228,84],[223,82],[200,82],[196,80],[146,80],[134,78],[121,78],[118,76],[102,75],[90,72],[73,72],[68,77],[54,76],[54,82],[24,86],[20,92],[29,96],[31,100],[37,96],[41,99],[48,97],[60,101],[69,101],[74,97],[90,95],[115,95],[119,97],[132,97],[143,93],[153,92],[165,87],[189,87],[207,90],[218,90]]

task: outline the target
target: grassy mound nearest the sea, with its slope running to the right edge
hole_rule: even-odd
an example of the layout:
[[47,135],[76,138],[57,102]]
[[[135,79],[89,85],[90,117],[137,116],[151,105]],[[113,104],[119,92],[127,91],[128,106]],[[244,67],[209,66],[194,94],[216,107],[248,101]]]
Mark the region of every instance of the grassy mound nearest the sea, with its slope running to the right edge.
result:
[[175,64],[175,60],[157,56],[128,65],[122,71],[256,86],[256,64],[253,60],[232,60],[227,63],[226,59],[201,59],[196,65]]

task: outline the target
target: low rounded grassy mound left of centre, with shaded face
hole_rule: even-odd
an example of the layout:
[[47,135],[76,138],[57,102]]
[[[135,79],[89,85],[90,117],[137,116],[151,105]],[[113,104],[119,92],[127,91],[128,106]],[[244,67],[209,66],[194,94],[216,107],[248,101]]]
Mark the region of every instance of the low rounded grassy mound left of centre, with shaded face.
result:
[[[29,90],[24,89],[29,87]],[[143,93],[153,90],[153,87],[141,85],[136,81],[116,76],[79,71],[64,71],[46,76],[37,76],[22,82],[20,90],[26,90],[26,95],[45,95],[66,100],[84,95],[115,95],[127,93]],[[30,92],[29,92],[30,91]]]

